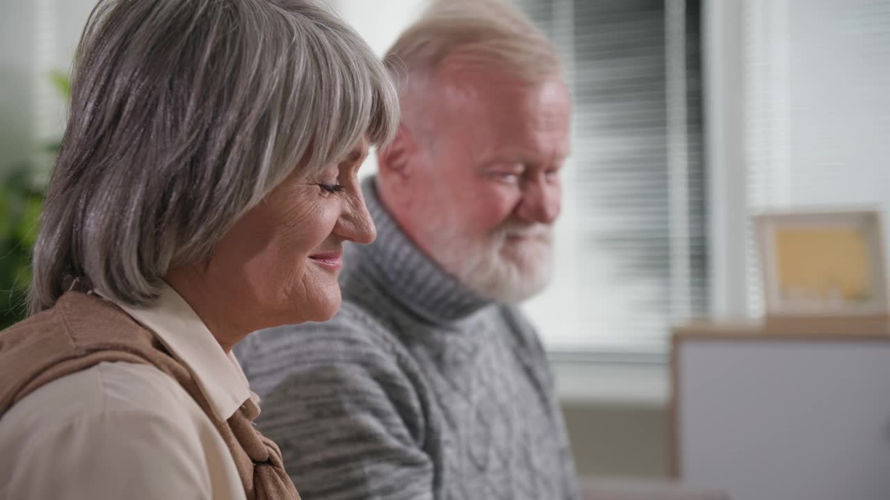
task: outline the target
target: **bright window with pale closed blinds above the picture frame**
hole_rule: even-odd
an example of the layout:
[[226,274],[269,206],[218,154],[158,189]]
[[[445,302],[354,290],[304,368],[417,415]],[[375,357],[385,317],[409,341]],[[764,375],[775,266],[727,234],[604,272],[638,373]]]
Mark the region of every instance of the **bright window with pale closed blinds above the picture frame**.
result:
[[[890,2],[744,5],[743,209],[876,207],[887,214]],[[748,310],[758,316],[763,296],[750,231],[747,239]]]

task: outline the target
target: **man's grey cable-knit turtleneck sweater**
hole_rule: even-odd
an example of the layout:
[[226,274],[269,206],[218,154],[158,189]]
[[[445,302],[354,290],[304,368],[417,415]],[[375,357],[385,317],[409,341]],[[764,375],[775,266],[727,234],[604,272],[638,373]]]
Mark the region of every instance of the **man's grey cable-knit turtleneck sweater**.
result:
[[545,352],[514,306],[414,246],[364,184],[376,242],[348,246],[343,309],[236,348],[256,423],[306,500],[568,500],[574,467]]

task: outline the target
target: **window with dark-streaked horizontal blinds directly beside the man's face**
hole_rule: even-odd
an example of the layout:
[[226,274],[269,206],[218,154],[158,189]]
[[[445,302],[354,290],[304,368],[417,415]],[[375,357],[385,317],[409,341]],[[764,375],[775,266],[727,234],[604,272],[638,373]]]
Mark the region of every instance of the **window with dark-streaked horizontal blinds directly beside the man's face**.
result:
[[527,305],[552,351],[660,356],[708,310],[700,4],[514,0],[575,98],[553,285]]

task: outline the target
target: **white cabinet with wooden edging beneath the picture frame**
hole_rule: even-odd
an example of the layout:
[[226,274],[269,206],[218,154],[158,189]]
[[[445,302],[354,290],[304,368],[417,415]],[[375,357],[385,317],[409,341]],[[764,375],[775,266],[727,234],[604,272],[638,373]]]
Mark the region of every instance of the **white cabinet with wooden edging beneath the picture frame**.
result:
[[732,500],[890,499],[886,320],[676,330],[674,466]]

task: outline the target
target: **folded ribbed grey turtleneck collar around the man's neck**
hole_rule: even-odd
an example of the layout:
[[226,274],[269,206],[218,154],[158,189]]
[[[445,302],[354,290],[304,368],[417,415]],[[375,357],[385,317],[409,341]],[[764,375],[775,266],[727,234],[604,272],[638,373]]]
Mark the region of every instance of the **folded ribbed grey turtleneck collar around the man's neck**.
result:
[[373,272],[387,294],[433,324],[466,318],[493,303],[457,281],[409,239],[381,201],[376,176],[362,182],[362,191],[377,238],[371,245],[349,245],[352,255],[346,256],[344,282],[353,272]]

